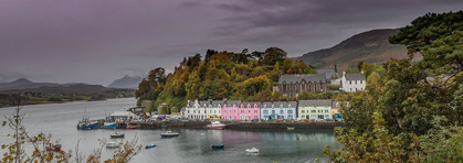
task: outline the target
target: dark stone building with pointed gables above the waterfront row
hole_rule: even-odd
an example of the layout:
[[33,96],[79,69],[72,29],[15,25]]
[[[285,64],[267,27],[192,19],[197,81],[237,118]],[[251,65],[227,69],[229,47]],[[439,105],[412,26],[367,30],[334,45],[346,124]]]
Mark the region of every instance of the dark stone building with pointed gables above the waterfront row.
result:
[[278,78],[278,90],[283,96],[296,97],[303,91],[318,93],[327,88],[325,74],[282,75]]

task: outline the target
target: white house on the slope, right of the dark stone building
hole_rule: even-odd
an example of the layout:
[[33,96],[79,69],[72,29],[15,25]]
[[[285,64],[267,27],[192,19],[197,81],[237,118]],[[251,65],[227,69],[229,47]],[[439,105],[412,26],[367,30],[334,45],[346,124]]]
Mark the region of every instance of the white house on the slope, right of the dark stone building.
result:
[[340,85],[346,93],[364,91],[367,86],[367,79],[365,78],[364,72],[349,74],[343,72]]

